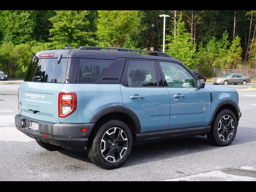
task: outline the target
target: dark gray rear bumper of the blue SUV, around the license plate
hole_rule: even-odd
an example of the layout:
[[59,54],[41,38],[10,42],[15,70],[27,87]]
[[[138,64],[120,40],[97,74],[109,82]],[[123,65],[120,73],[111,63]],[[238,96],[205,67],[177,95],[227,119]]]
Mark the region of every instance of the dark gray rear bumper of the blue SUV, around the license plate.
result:
[[[38,131],[30,130],[28,128],[28,120],[38,122]],[[22,121],[25,121],[24,126],[22,126]],[[86,147],[90,132],[92,131],[94,124],[95,123],[56,124],[26,118],[20,114],[15,116],[15,126],[22,133],[33,139],[56,146],[62,146],[71,150],[83,150]],[[82,128],[88,128],[88,132],[81,132],[80,130]],[[48,138],[43,137],[43,134],[48,135]]]

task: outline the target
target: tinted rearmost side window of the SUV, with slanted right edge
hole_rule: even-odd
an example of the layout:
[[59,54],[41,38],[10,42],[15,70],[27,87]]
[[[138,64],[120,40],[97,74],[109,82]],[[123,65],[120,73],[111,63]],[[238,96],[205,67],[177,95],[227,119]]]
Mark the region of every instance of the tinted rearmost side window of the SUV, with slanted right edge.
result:
[[112,60],[80,59],[77,83],[93,83]]

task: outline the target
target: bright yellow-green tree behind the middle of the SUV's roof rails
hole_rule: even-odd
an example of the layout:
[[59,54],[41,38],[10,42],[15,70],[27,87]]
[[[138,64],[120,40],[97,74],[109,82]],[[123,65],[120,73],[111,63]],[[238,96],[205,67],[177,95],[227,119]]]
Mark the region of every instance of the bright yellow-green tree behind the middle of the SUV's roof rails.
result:
[[98,11],[100,46],[122,47],[139,25],[138,11]]

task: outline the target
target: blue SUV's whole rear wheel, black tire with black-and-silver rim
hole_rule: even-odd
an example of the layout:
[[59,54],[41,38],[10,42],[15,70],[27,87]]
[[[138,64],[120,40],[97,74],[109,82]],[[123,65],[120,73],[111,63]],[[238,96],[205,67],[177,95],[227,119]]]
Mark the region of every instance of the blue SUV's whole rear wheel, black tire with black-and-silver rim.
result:
[[95,132],[87,144],[89,159],[104,169],[114,169],[126,162],[132,151],[132,133],[120,120],[110,120]]

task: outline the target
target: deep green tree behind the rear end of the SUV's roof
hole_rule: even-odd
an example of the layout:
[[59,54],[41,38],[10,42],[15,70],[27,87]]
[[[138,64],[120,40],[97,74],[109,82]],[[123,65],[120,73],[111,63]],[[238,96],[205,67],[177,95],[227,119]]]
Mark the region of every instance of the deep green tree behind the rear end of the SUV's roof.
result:
[[56,11],[56,15],[49,19],[53,23],[49,30],[53,48],[64,47],[61,36],[72,48],[92,45],[94,39],[87,14],[88,11]]

